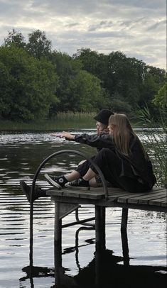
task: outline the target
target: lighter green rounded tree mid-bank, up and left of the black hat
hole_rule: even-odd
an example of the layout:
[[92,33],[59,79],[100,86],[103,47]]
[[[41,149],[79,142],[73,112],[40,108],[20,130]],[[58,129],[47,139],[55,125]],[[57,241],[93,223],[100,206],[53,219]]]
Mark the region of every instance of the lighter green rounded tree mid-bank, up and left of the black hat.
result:
[[82,70],[80,60],[54,51],[51,61],[59,77],[57,96],[60,103],[52,106],[50,114],[58,111],[93,111],[103,106],[102,87],[97,77]]

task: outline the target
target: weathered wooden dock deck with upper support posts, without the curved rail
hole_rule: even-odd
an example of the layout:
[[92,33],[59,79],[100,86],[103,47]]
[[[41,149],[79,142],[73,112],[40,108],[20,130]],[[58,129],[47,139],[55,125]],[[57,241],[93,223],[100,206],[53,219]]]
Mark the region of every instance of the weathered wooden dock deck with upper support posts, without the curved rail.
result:
[[[95,205],[95,233],[96,249],[105,249],[105,208],[122,207],[122,231],[126,231],[128,209],[166,212],[167,196],[166,189],[154,187],[150,192],[129,193],[122,189],[110,187],[107,196],[102,187],[92,187],[90,190],[61,189],[48,192],[55,201],[55,245],[61,243],[62,218],[81,204]],[[85,219],[89,221],[91,219]],[[81,223],[85,222],[84,220]],[[76,221],[69,223],[75,225]]]

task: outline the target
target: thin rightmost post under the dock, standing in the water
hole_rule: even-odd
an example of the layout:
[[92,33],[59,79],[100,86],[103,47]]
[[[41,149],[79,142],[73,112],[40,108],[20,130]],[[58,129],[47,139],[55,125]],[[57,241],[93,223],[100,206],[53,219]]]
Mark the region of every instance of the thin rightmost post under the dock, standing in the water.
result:
[[127,220],[128,220],[128,209],[122,209],[122,225],[121,225],[121,235],[122,235],[122,253],[124,257],[124,265],[129,265],[129,248],[128,248],[128,238],[127,238]]

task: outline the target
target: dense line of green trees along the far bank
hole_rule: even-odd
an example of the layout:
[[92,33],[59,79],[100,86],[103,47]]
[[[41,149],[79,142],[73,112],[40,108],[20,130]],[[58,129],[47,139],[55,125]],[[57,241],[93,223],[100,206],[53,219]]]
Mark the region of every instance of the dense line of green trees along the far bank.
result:
[[166,71],[126,57],[81,48],[72,55],[52,49],[45,32],[26,41],[9,31],[0,47],[0,118],[31,121],[58,112],[112,109],[135,117],[146,105],[166,115]]

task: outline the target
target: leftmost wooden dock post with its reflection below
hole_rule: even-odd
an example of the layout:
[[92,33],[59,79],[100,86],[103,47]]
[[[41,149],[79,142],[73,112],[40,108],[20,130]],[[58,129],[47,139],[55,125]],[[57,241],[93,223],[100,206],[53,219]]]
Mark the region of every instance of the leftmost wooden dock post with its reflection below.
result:
[[60,267],[62,267],[62,220],[60,218],[60,203],[55,202],[55,283],[60,284]]

